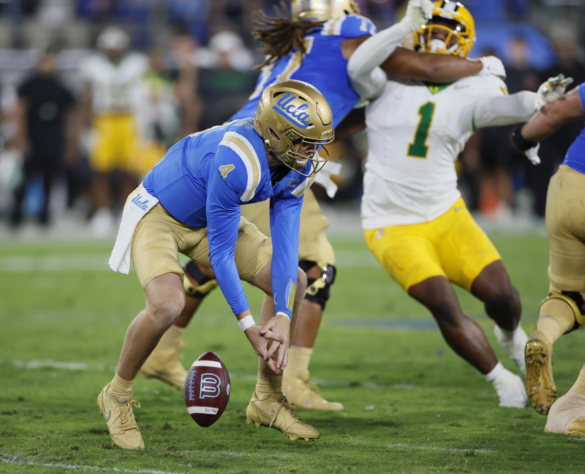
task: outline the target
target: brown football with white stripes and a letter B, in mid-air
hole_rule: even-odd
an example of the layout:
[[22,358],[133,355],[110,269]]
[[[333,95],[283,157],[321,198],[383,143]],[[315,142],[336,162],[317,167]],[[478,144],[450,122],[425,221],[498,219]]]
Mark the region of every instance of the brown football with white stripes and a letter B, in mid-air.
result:
[[185,404],[201,427],[214,424],[229,401],[229,374],[215,352],[205,352],[191,366],[185,379]]

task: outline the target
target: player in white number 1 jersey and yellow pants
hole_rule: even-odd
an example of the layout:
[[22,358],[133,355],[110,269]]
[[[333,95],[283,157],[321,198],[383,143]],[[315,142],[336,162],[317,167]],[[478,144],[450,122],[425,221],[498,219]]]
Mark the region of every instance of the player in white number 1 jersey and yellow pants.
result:
[[[431,21],[414,33],[418,54],[466,57],[475,42],[471,13],[459,2],[434,5]],[[357,49],[350,70],[354,62],[362,73],[379,64],[374,40]],[[368,97],[377,95],[361,116],[369,143],[362,199],[367,245],[390,276],[431,311],[453,351],[491,382],[500,406],[524,408],[528,400],[522,379],[498,362],[451,286],[483,301],[497,324],[498,342],[524,369],[528,336],[519,326],[518,291],[500,254],[467,210],[457,189],[455,160],[477,128],[525,122],[537,105],[558,95],[508,95],[496,76],[453,84],[392,77]]]

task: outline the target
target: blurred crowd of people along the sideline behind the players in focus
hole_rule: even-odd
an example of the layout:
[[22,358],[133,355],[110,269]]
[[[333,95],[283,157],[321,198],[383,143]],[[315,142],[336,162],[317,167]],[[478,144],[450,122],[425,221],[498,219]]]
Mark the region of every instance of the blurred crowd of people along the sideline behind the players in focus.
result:
[[[405,0],[358,0],[378,29]],[[276,0],[0,0],[0,226],[84,224],[110,235],[126,195],[185,135],[221,124],[254,89],[252,12]],[[585,0],[467,0],[471,56],[494,54],[511,93],[564,73],[585,81]],[[538,167],[510,129],[480,130],[457,163],[467,204],[487,222],[539,222],[546,187],[581,123],[541,147]],[[336,143],[339,192],[357,208],[365,138]],[[325,214],[327,214],[325,212]]]

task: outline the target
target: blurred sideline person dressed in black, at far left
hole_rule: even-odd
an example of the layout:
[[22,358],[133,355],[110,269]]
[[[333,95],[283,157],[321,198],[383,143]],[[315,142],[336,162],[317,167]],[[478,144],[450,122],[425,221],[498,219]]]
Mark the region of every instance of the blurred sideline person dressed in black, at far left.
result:
[[26,186],[35,174],[42,177],[44,191],[39,222],[49,224],[51,184],[65,162],[74,159],[77,137],[75,100],[57,77],[56,51],[48,47],[33,74],[18,87],[15,145],[25,160],[26,178],[14,194],[11,225],[22,221]]

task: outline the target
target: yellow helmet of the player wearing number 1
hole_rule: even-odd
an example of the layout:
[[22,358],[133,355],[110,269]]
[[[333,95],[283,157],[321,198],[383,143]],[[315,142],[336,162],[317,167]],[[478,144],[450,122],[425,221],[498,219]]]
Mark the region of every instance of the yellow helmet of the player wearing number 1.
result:
[[[445,47],[431,43],[433,30],[446,30]],[[459,2],[439,0],[435,2],[433,18],[421,26],[414,35],[414,49],[421,53],[453,54],[467,57],[476,42],[475,22],[472,14]],[[452,38],[456,43],[449,47]]]

